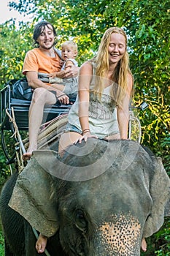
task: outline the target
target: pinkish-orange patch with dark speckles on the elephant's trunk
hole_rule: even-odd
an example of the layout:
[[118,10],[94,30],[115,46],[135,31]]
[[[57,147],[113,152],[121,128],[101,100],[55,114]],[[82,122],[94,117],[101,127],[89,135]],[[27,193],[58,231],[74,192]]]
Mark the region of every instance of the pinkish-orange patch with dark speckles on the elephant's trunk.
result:
[[101,239],[109,245],[110,250],[117,255],[134,255],[134,249],[139,247],[141,225],[131,214],[112,215],[109,222],[103,222],[99,227]]

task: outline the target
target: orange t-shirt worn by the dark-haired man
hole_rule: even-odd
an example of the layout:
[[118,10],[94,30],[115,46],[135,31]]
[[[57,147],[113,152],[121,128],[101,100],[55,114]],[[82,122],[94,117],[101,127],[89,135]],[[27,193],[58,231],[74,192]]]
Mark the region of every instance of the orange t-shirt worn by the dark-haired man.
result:
[[55,58],[51,58],[42,53],[39,48],[28,50],[23,61],[23,75],[27,71],[36,71],[41,73],[53,73],[61,70],[60,57],[55,53]]

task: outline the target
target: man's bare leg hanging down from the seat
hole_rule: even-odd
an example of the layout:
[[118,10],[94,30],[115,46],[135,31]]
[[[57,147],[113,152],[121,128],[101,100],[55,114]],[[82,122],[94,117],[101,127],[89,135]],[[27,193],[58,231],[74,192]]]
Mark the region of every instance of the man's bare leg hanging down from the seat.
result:
[[42,124],[45,104],[53,105],[56,102],[56,97],[46,89],[36,89],[34,91],[33,99],[29,109],[29,146],[23,159],[28,160],[31,158],[32,151],[37,148],[37,138],[39,127]]

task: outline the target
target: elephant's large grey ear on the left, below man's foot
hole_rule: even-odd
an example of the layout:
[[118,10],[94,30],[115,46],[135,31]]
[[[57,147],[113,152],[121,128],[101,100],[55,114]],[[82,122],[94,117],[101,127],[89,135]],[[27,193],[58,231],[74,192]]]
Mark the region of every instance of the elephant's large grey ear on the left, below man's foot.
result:
[[12,209],[47,237],[53,236],[59,227],[57,203],[50,197],[52,182],[50,174],[43,170],[33,156],[18,176],[9,201]]

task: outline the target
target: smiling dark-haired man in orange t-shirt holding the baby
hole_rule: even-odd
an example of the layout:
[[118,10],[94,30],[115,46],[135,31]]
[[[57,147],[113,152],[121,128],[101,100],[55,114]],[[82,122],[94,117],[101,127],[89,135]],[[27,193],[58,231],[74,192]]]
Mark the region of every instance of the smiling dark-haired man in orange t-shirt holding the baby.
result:
[[34,89],[29,109],[29,146],[23,154],[23,159],[28,160],[32,151],[37,148],[39,127],[42,124],[45,105],[54,105],[57,100],[69,104],[69,97],[61,91],[61,86],[53,83],[43,83],[38,79],[38,72],[58,72],[58,78],[71,78],[77,76],[78,67],[61,71],[62,61],[56,53],[56,32],[52,24],[42,21],[35,26],[33,39],[38,48],[29,50],[23,63],[23,74],[26,75],[28,85]]

